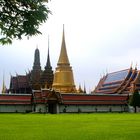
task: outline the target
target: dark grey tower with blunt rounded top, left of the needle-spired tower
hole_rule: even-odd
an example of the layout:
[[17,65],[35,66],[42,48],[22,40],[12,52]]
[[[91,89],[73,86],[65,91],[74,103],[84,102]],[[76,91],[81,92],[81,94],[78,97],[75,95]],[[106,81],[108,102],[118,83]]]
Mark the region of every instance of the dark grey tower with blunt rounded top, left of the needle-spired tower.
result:
[[40,66],[40,53],[39,49],[36,48],[34,54],[34,64],[30,75],[30,85],[33,90],[40,89],[40,77],[41,77],[41,66]]

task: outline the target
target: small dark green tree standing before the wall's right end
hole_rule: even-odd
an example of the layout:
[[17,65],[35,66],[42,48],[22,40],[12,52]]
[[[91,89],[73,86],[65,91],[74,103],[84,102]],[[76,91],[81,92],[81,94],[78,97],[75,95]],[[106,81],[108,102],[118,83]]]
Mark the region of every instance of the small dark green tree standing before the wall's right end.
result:
[[134,107],[135,113],[137,112],[137,106],[140,107],[140,93],[136,91],[130,98],[130,105]]

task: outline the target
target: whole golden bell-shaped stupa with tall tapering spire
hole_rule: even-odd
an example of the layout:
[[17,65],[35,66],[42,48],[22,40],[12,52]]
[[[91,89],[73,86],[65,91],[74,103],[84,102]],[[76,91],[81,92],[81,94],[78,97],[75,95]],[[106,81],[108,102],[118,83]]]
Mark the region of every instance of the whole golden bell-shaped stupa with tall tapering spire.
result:
[[61,93],[76,92],[73,71],[66,50],[64,26],[60,56],[54,73],[53,89]]

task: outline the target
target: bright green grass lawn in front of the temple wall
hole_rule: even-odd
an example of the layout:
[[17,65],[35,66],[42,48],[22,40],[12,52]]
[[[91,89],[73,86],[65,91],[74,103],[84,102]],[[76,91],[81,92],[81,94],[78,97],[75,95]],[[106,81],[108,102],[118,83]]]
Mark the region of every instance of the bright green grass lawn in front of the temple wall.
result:
[[139,140],[140,114],[0,114],[0,140]]

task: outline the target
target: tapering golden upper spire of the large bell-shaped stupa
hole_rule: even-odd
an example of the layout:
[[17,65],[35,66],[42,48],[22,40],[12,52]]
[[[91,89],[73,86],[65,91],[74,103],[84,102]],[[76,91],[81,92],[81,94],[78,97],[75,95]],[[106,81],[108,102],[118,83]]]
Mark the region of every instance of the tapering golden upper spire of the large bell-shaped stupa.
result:
[[61,44],[61,51],[60,56],[58,60],[58,65],[69,65],[69,59],[67,55],[67,49],[66,49],[66,43],[65,43],[65,31],[64,31],[64,25],[63,25],[63,35],[62,35],[62,44]]

